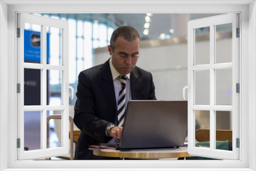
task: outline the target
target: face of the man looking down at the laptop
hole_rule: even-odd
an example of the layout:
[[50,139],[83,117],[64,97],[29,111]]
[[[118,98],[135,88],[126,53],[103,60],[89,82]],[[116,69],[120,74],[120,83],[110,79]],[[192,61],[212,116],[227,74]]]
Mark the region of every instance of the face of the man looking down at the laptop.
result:
[[114,52],[110,45],[108,51],[112,55],[112,64],[120,74],[129,74],[136,66],[140,49],[140,39],[127,41],[123,37],[116,39]]

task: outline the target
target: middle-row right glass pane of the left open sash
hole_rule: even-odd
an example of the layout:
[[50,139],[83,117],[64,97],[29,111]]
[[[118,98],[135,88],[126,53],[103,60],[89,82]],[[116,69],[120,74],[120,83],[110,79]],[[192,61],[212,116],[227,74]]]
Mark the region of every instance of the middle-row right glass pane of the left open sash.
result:
[[47,105],[61,105],[61,79],[62,71],[48,70],[47,74]]

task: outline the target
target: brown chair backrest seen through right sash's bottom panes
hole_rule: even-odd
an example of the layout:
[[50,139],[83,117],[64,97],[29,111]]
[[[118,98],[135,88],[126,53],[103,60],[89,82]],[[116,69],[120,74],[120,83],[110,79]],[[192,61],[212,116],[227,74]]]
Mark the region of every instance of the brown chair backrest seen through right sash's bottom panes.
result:
[[[210,129],[197,129],[196,140],[210,141]],[[216,141],[229,140],[232,145],[232,130],[216,130]]]

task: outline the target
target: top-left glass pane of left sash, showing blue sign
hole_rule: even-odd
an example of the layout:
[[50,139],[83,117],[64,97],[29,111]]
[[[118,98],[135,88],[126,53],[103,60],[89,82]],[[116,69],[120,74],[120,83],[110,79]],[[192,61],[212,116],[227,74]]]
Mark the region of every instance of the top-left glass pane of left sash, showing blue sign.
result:
[[41,63],[41,25],[24,24],[24,62]]

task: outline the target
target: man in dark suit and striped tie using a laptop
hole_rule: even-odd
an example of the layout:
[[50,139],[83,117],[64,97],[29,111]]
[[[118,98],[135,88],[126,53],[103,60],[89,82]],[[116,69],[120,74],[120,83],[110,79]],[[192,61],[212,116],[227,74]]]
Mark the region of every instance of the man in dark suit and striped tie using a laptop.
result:
[[74,122],[81,133],[75,159],[112,159],[94,156],[89,145],[120,140],[129,100],[156,99],[152,74],[136,67],[139,49],[137,30],[119,27],[108,46],[111,58],[79,74]]

